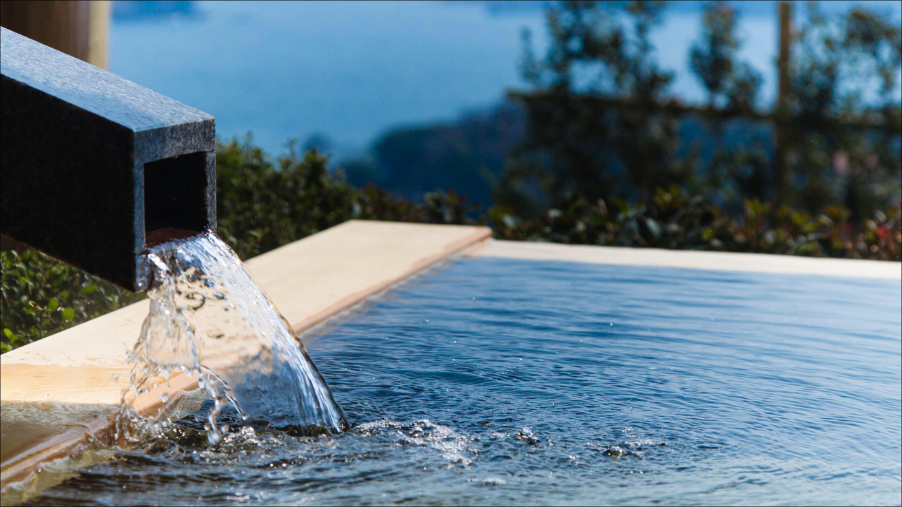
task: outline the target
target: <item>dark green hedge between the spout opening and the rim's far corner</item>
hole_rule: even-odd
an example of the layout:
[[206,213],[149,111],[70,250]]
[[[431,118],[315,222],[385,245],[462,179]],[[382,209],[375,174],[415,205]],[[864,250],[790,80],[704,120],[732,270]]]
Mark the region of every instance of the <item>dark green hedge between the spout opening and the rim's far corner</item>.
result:
[[242,259],[352,218],[464,224],[473,207],[454,191],[428,192],[417,203],[373,184],[356,189],[343,171],[329,174],[316,148],[300,155],[296,146],[274,161],[249,138],[218,147],[217,234]]

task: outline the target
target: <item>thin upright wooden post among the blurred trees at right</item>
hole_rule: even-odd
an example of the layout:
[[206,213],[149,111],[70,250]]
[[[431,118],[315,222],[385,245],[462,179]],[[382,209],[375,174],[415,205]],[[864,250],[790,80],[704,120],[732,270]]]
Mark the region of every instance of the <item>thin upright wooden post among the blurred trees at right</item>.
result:
[[779,53],[777,57],[778,90],[777,108],[774,115],[774,198],[778,203],[786,203],[789,192],[787,168],[787,122],[789,120],[789,98],[792,94],[792,75],[790,70],[792,39],[792,3],[786,0],[778,5],[779,16]]

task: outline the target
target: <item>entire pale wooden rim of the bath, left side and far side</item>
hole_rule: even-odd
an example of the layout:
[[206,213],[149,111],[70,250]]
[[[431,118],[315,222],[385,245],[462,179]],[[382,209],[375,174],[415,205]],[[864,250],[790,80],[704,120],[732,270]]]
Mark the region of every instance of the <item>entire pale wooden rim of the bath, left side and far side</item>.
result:
[[[358,220],[264,253],[245,265],[291,326],[303,333],[458,254],[902,280],[900,264],[891,262],[495,241],[487,227]],[[5,409],[46,403],[61,410],[51,427],[41,431],[26,427],[3,435],[0,446],[13,450],[3,453],[0,488],[32,479],[48,463],[78,453],[89,440],[110,441],[115,411],[128,386],[125,356],[147,312],[144,300],[0,355],[0,403]],[[164,394],[172,398],[196,383],[186,375],[175,376],[133,400],[133,408],[152,414],[161,408]],[[73,412],[72,407],[89,410]]]

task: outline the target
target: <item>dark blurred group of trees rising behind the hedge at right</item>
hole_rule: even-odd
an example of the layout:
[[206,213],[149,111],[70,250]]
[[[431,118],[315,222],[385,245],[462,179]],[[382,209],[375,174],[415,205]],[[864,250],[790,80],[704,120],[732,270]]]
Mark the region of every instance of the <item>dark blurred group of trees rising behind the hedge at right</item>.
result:
[[[538,217],[579,199],[650,199],[672,185],[734,213],[759,198],[810,213],[838,205],[861,220],[898,203],[902,29],[864,7],[833,16],[808,8],[787,42],[789,89],[766,111],[759,72],[739,60],[739,14],[729,3],[705,5],[687,55],[707,91],[703,106],[675,97],[672,74],[657,63],[649,32],[666,3],[550,6],[546,53],[537,56],[524,35],[531,89],[510,95],[528,123],[495,203]],[[707,135],[687,146],[690,117]],[[752,124],[767,125],[769,139]]]

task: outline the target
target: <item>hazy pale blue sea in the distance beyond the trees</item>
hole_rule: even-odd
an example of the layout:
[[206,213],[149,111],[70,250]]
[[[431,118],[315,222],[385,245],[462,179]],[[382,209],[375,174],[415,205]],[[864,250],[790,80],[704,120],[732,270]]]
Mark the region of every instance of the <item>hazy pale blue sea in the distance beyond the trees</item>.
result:
[[[282,152],[317,135],[339,157],[400,124],[453,121],[498,103],[520,79],[520,32],[541,48],[545,2],[124,2],[114,4],[110,70],[216,116],[223,138],[253,133]],[[804,11],[799,2],[796,12]],[[898,2],[827,2],[825,10]],[[672,90],[703,91],[687,70],[702,2],[675,2],[655,32]],[[776,5],[740,2],[741,58],[773,99]]]

